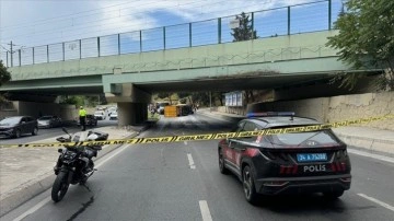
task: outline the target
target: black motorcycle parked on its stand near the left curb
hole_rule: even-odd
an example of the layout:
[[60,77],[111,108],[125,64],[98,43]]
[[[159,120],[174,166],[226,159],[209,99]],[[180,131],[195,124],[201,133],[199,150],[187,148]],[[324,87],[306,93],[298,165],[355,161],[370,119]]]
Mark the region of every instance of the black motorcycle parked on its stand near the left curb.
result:
[[[59,142],[81,142],[81,141],[101,141],[107,140],[108,133],[95,130],[76,132],[72,136],[66,128],[62,130],[68,135],[68,138],[59,137],[56,140]],[[51,199],[55,202],[60,201],[70,184],[84,185],[89,177],[96,171],[92,158],[97,156],[97,152],[102,150],[102,146],[65,146],[58,149],[60,153],[56,166],[54,167],[55,175],[57,175],[51,188]]]

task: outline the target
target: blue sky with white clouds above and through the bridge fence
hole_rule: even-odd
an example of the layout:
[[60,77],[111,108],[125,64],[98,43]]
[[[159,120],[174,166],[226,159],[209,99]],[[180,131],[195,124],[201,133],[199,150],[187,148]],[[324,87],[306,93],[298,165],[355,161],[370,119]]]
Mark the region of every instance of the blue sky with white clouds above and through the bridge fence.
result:
[[[47,61],[46,45],[50,45],[50,60],[62,59],[61,42],[66,44],[67,58],[90,57],[97,54],[96,37],[101,37],[101,55],[118,50],[120,35],[121,53],[140,49],[139,31],[142,31],[143,50],[163,48],[163,28],[166,27],[166,48],[189,45],[189,22],[193,24],[193,45],[217,43],[216,18],[222,19],[222,42],[231,42],[229,23],[233,15],[273,8],[294,5],[316,0],[0,0],[0,59],[5,60],[5,50],[22,49],[22,65],[32,62],[33,46],[35,62]],[[336,14],[340,0],[333,0]],[[291,11],[292,33],[326,28],[327,2],[294,7]],[[335,14],[333,15],[335,16]],[[229,16],[229,18],[224,18]],[[185,24],[185,25],[176,25]],[[287,33],[287,10],[255,13],[257,35],[265,37]],[[159,27],[159,28],[155,28]],[[109,35],[109,36],[107,36]],[[89,38],[89,39],[85,39]],[[83,39],[80,51],[78,39]],[[158,43],[161,44],[158,44]],[[51,45],[55,44],[55,45]],[[39,56],[39,55],[43,56]],[[37,56],[38,55],[38,56]]]

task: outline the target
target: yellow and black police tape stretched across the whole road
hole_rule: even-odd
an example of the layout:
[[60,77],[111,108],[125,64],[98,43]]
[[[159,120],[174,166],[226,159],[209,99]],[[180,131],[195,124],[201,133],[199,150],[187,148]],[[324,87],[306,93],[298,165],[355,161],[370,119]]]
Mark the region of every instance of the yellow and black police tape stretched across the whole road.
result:
[[132,139],[105,140],[105,141],[84,141],[84,142],[0,144],[0,148],[40,148],[40,147],[63,147],[63,146],[78,147],[78,146],[137,144],[137,143],[215,140],[215,139],[256,137],[256,136],[266,136],[266,135],[291,133],[291,132],[308,132],[308,131],[316,131],[322,129],[351,126],[357,124],[367,124],[370,121],[391,119],[391,118],[394,118],[394,115],[359,118],[359,119],[344,120],[332,124],[311,125],[311,126],[302,126],[302,127],[288,127],[288,128],[278,128],[278,129],[264,129],[256,131],[185,135],[185,136],[171,136],[171,137],[159,137],[159,138],[132,138]]

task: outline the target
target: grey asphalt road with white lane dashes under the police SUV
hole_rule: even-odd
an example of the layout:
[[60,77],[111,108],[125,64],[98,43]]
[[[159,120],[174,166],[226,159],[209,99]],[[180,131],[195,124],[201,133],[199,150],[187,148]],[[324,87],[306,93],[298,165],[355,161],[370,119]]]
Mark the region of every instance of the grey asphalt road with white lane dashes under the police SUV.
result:
[[[141,137],[228,131],[225,121],[195,114],[161,119]],[[394,220],[394,164],[350,155],[352,186],[335,201],[320,195],[266,197],[252,206],[242,184],[218,170],[217,140],[126,146],[96,163],[88,187],[65,199],[50,191],[1,220]]]

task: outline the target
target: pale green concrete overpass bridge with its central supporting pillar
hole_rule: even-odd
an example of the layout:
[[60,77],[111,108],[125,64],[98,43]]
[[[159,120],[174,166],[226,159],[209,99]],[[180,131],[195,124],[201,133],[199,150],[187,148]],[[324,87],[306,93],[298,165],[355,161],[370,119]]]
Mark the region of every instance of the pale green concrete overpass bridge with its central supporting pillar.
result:
[[[198,47],[13,67],[0,91],[60,95],[105,93],[117,102],[119,123],[146,119],[160,91],[275,89],[355,71],[325,46],[336,31],[294,34]],[[134,116],[134,117],[132,117]]]

